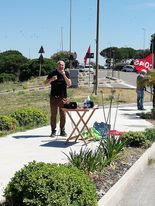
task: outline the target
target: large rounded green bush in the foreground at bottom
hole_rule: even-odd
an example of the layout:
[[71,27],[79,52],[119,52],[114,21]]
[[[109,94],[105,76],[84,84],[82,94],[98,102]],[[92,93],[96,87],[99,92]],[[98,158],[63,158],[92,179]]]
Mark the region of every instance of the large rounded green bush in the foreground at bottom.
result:
[[97,206],[94,185],[82,171],[35,161],[15,173],[4,196],[14,206]]

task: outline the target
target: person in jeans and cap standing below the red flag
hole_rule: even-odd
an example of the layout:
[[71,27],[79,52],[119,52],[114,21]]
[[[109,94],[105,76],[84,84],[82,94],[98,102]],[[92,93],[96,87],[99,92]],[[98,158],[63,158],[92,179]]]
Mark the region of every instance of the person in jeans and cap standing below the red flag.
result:
[[145,75],[147,74],[147,71],[145,69],[142,69],[140,74],[137,76],[137,109],[138,110],[145,110],[143,107],[144,103],[144,91],[146,89],[145,84]]

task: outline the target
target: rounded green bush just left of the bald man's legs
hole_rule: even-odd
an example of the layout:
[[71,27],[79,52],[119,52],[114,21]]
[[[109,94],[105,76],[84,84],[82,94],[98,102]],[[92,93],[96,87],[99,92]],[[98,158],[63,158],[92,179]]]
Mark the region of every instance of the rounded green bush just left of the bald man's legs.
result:
[[15,118],[20,127],[42,126],[48,122],[45,112],[37,108],[24,108],[14,112],[11,117]]

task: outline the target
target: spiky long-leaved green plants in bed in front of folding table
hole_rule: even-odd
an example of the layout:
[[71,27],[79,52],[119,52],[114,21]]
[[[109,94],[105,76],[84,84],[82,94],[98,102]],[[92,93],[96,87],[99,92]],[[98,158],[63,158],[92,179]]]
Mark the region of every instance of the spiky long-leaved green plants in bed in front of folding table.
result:
[[112,136],[103,139],[97,150],[81,149],[79,153],[70,151],[68,160],[86,174],[101,171],[105,166],[116,160],[119,153],[124,149],[126,140]]

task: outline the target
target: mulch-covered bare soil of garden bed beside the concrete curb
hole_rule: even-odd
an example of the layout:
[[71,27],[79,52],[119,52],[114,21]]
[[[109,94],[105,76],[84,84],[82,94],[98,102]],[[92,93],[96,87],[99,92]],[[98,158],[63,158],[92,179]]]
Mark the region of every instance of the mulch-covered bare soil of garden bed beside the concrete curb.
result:
[[126,148],[119,160],[106,167],[101,173],[93,174],[90,177],[96,187],[99,199],[126,173],[145,150],[143,148]]

